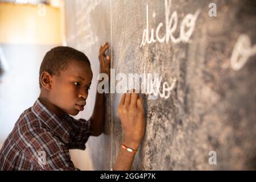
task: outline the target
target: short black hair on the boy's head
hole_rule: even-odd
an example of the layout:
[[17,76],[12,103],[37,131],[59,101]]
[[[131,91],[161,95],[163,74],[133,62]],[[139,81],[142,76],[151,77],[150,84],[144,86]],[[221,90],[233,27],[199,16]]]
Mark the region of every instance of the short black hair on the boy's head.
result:
[[50,75],[59,75],[61,71],[68,68],[69,61],[76,60],[87,63],[90,67],[90,61],[88,57],[76,49],[67,46],[59,46],[52,48],[46,53],[44,59],[40,66],[39,71],[39,85],[40,88],[42,84],[40,82],[40,76],[43,72],[48,72]]

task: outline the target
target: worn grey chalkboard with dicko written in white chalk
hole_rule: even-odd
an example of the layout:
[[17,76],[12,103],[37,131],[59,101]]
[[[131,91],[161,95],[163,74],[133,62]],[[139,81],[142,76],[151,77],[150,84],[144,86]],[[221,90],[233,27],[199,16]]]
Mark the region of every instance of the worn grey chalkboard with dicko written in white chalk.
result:
[[[146,134],[132,169],[255,169],[255,4],[65,1],[67,45],[89,57],[94,74],[80,116],[92,114],[98,49],[109,42],[115,75],[162,77],[159,97],[143,97]],[[106,97],[104,134],[87,144],[94,168],[102,170],[113,167],[122,141],[121,94]]]

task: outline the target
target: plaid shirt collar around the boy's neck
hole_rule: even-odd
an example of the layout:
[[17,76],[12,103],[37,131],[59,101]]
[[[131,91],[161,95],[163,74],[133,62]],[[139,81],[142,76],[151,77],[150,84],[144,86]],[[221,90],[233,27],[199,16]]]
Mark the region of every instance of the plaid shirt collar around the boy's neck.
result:
[[36,117],[40,118],[54,133],[60,137],[64,143],[69,143],[69,133],[71,132],[71,127],[68,125],[65,118],[67,118],[67,113],[65,113],[63,119],[57,117],[56,114],[52,113],[42,102],[37,99],[31,108],[32,112]]

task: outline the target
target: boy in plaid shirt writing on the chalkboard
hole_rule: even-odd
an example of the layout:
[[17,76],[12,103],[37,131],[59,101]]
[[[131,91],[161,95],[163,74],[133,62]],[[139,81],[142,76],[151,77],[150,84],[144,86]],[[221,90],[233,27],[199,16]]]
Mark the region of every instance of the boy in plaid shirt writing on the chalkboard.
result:
[[[108,43],[100,47],[100,72],[109,73]],[[40,67],[40,96],[15,123],[0,151],[1,170],[79,170],[69,149],[85,150],[89,136],[104,125],[104,94],[97,92],[92,117],[73,119],[84,110],[93,73],[84,53],[56,47],[46,53]],[[125,135],[114,170],[129,170],[144,135],[144,111],[138,94],[123,94],[118,106]],[[69,115],[70,114],[70,115]]]

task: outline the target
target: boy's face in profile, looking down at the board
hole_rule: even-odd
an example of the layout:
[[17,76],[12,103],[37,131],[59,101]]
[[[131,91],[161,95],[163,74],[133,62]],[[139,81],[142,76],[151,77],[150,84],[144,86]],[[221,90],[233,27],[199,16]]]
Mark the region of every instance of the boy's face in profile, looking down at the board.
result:
[[92,77],[92,69],[87,63],[70,61],[67,69],[52,77],[50,101],[61,111],[77,115],[84,110]]

